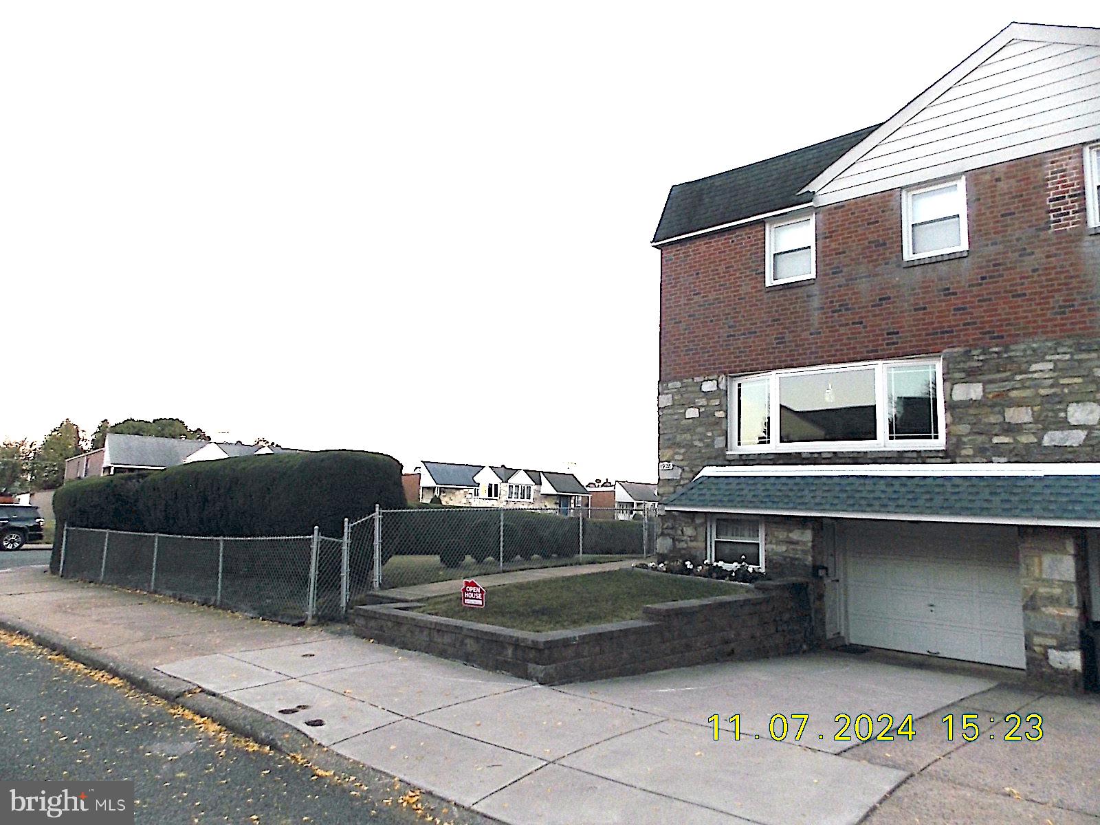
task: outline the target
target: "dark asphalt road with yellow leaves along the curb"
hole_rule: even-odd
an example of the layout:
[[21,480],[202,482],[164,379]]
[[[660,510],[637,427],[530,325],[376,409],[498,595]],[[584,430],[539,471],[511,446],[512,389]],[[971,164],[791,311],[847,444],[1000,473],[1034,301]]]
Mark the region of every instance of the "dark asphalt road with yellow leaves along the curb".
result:
[[388,783],[318,776],[2,630],[0,778],[132,779],[139,823],[425,822]]

